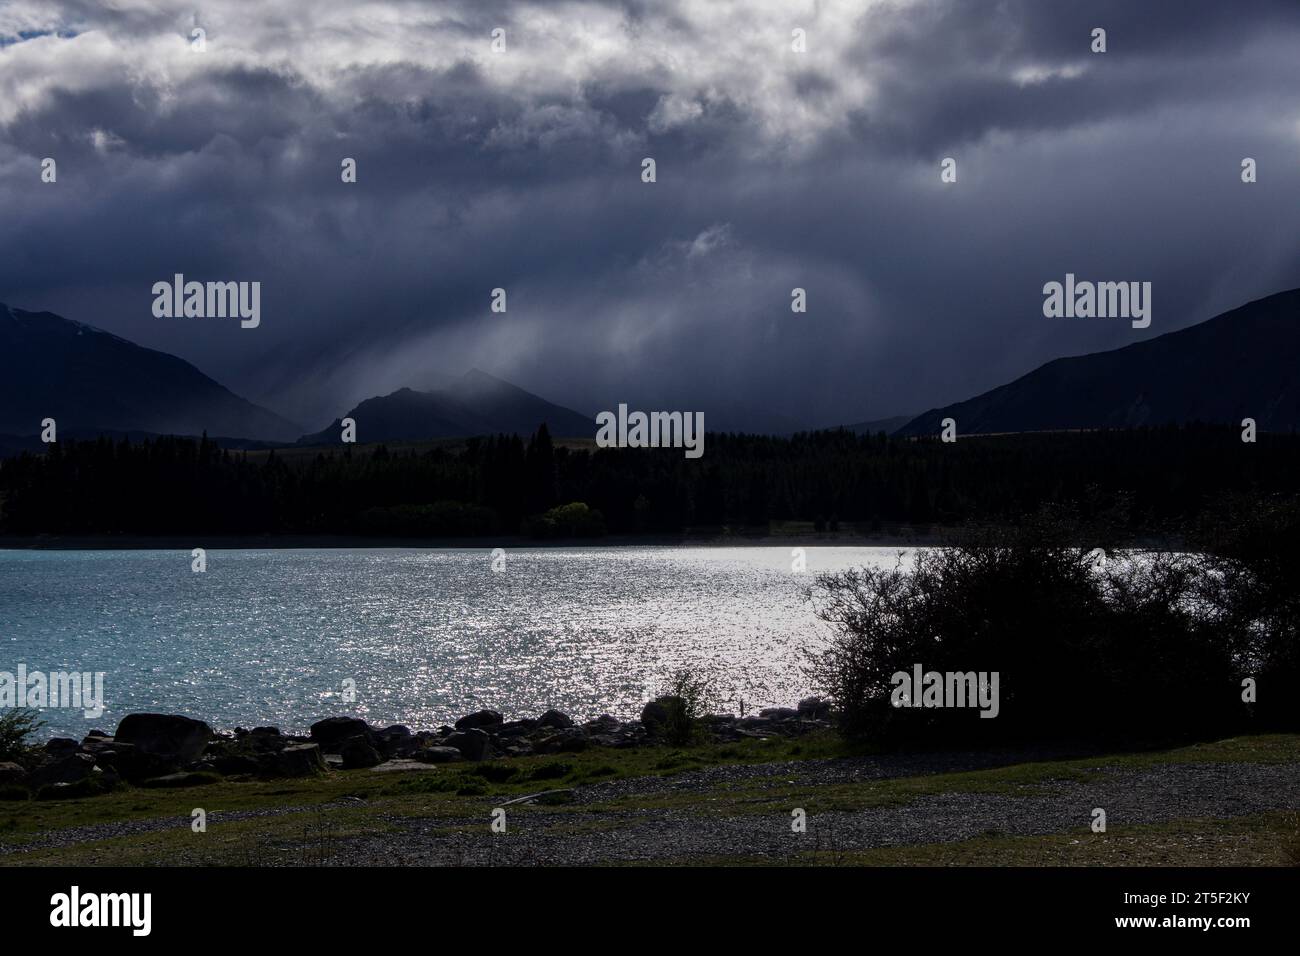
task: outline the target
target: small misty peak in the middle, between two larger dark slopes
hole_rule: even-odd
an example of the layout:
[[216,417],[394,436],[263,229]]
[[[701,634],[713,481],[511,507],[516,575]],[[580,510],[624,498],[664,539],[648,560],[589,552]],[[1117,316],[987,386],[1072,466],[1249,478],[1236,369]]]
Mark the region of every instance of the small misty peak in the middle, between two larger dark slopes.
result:
[[556,438],[590,438],[595,419],[547,402],[477,368],[436,392],[398,389],[368,398],[325,429],[304,434],[299,445],[335,445],[342,419],[356,423],[358,442],[464,438],[472,434],[528,436],[546,423]]

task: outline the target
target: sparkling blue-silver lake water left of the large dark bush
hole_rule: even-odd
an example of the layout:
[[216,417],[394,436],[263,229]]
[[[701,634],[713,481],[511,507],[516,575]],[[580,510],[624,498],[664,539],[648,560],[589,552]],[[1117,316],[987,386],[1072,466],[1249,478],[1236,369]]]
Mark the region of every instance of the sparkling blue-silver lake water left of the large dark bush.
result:
[[[793,705],[826,627],[822,571],[896,548],[0,550],[0,671],[104,671],[104,713],[47,709],[42,735],[112,732],[131,711],[216,728],[356,714],[412,730],[491,708],[629,718],[677,669],[716,710]],[[906,554],[906,553],[905,553]],[[344,700],[344,680],[356,700]]]

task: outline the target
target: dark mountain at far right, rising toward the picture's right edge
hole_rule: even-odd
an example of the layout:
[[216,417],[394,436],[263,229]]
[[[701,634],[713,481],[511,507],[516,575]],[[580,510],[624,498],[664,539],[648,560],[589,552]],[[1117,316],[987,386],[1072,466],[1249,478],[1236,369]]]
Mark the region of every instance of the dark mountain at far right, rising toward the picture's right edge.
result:
[[1261,431],[1291,431],[1300,427],[1300,289],[1123,349],[1056,359],[932,408],[898,434],[937,434],[946,418],[959,436],[1244,418]]

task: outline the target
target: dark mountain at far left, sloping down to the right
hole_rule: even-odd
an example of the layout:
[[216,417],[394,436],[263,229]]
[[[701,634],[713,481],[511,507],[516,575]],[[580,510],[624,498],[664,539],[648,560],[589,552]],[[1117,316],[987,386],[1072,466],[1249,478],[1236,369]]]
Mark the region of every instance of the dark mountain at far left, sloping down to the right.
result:
[[207,431],[280,441],[303,431],[174,355],[0,303],[0,433],[36,434],[47,418],[64,436]]

